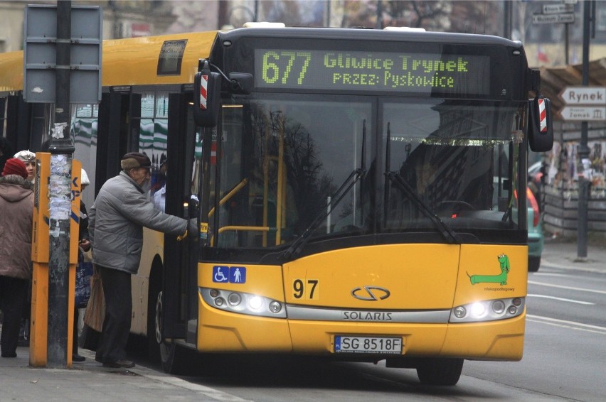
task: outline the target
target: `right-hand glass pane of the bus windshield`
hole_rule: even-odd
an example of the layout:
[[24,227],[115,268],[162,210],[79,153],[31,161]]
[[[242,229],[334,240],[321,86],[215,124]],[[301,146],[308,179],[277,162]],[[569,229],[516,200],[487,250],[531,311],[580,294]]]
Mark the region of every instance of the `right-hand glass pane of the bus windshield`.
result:
[[[503,214],[498,212],[511,194],[509,149],[518,122],[515,108],[427,103],[406,108],[386,104],[384,110],[385,118],[393,119],[386,136],[390,166],[423,205],[453,228],[503,226]],[[386,229],[431,227],[401,185],[386,186]]]

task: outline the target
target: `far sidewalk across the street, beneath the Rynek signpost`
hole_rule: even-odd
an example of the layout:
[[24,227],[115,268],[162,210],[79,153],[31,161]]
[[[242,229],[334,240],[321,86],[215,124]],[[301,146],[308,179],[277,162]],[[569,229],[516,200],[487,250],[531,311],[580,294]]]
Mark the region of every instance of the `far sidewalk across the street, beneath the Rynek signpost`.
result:
[[587,246],[587,259],[580,261],[578,244],[575,239],[546,237],[541,256],[541,268],[538,272],[541,272],[543,267],[606,273],[606,239],[590,239]]

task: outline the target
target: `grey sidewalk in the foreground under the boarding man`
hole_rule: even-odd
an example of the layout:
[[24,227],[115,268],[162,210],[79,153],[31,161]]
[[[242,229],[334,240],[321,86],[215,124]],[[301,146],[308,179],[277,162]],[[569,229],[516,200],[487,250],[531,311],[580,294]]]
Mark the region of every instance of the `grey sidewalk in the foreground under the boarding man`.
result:
[[144,366],[107,369],[90,350],[79,353],[86,360],[72,369],[33,368],[29,348],[18,347],[16,358],[0,358],[0,401],[243,401]]

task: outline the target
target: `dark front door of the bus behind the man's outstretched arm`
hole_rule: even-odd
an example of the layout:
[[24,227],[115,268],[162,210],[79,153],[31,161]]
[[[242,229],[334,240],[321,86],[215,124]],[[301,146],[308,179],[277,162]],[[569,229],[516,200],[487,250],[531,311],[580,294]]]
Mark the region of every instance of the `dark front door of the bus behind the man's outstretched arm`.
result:
[[[184,218],[198,215],[198,171],[201,147],[193,123],[191,93],[169,95],[166,145],[166,213]],[[198,234],[183,241],[164,237],[163,325],[164,338],[186,338],[187,323],[197,317]],[[193,336],[195,339],[195,331]],[[195,340],[188,342],[195,343]]]

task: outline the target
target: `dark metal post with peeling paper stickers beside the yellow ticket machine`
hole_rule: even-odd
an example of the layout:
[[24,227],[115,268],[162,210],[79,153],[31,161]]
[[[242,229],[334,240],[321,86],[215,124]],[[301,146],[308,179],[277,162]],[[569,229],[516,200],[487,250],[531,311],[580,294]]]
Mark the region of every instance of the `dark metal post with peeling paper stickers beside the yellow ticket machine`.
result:
[[71,170],[70,139],[71,1],[57,1],[57,65],[55,124],[50,138],[50,219],[48,222],[48,338],[47,366],[66,368],[68,359],[68,295],[70,255]]

